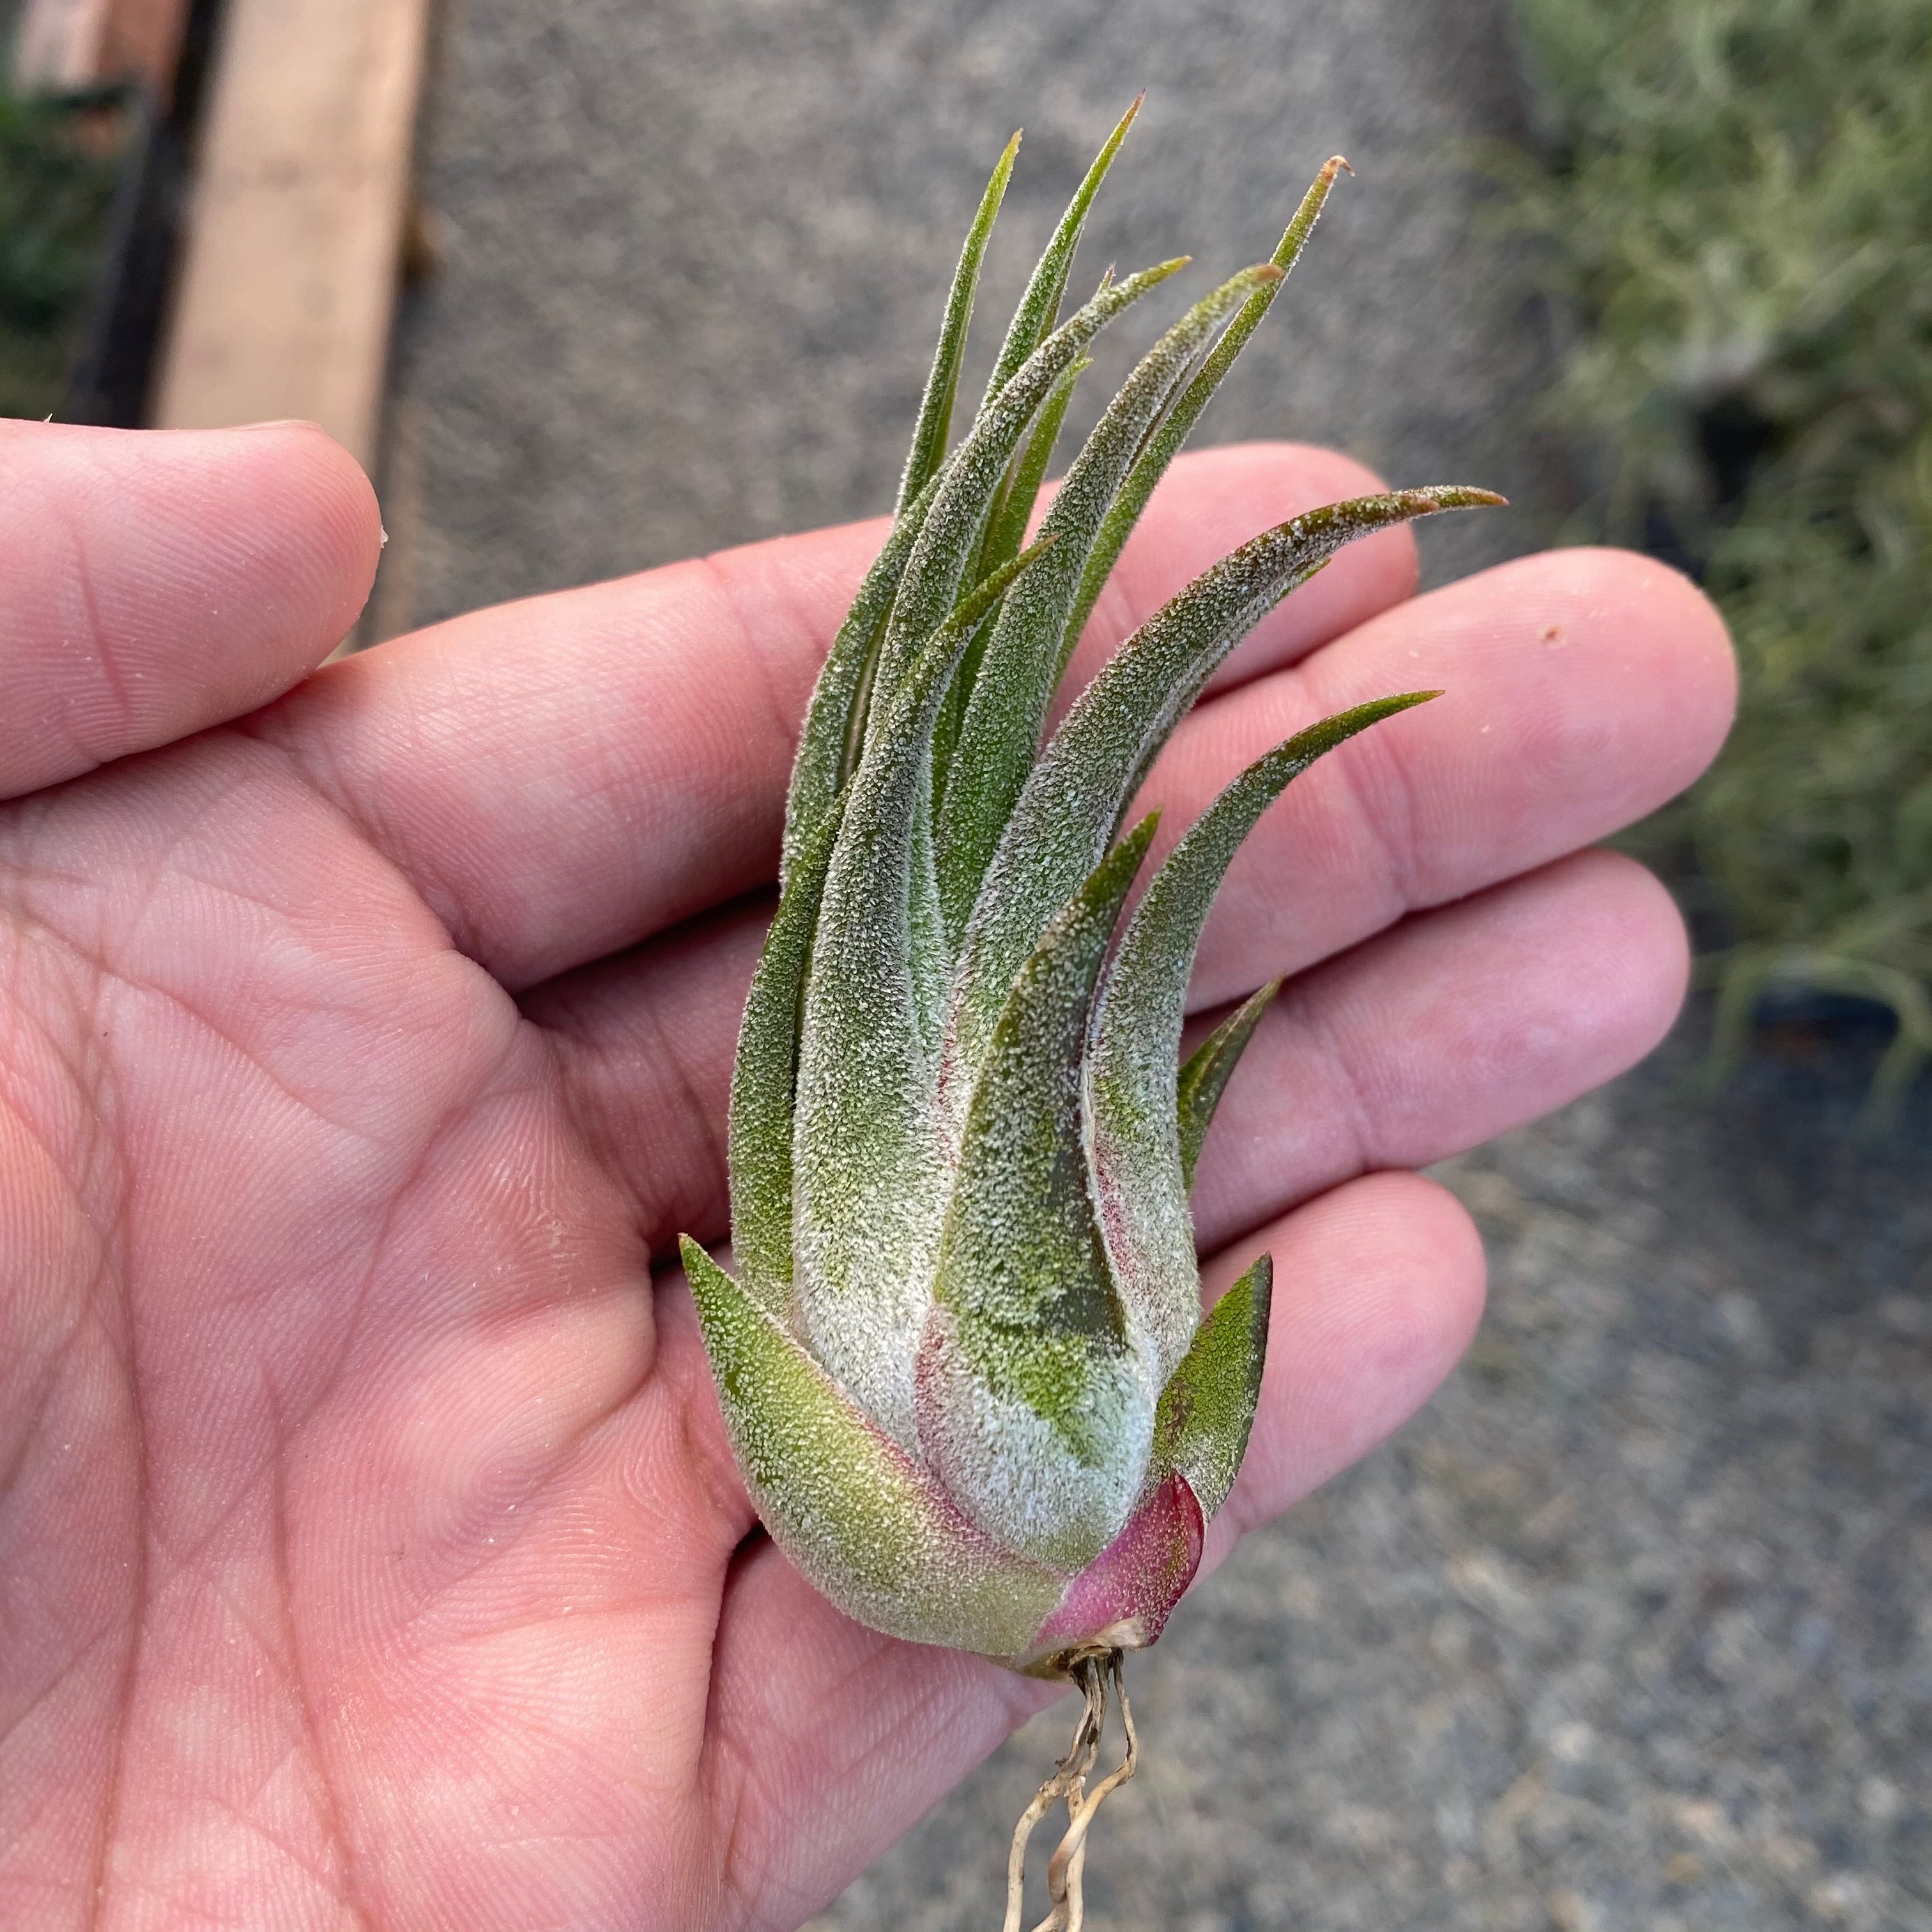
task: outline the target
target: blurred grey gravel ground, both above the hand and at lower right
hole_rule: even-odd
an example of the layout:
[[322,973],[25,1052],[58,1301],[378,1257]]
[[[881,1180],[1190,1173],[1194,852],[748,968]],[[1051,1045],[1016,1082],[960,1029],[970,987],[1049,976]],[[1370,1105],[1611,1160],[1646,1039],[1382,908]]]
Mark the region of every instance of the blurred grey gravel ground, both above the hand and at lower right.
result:
[[[885,508],[993,155],[1024,122],[981,313],[1142,83],[1082,272],[1206,286],[1358,168],[1204,440],[1528,504],[1437,576],[1530,543],[1540,342],[1457,166],[1515,124],[1488,0],[454,0],[379,628]],[[1138,1660],[1095,1926],[1932,1932],[1932,1105],[1857,1148],[1866,1061],[1799,1034],[1692,1099],[1694,1032],[1451,1165],[1484,1335]],[[997,1924],[1066,1723],[821,1932]]]

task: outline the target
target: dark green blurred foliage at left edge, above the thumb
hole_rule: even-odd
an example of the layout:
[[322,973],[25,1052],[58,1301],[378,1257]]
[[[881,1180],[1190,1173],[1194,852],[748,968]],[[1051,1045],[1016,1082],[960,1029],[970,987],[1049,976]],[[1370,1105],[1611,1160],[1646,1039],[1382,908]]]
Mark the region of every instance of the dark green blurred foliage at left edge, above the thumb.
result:
[[0,91],[0,415],[60,406],[112,199],[73,108]]

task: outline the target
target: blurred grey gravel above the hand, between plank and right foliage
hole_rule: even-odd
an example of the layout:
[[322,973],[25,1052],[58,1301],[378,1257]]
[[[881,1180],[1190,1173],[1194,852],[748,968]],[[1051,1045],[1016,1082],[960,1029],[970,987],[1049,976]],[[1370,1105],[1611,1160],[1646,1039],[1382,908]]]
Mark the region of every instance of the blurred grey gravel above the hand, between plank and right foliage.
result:
[[[1329,153],[1358,170],[1200,440],[1333,442],[1532,506],[1443,520],[1464,527],[1426,533],[1437,572],[1528,547],[1540,491],[1507,431],[1538,338],[1461,166],[1513,126],[1497,23],[1490,0],[460,0],[421,180],[442,272],[398,344],[384,628],[891,508],[1007,135],[1026,128],[968,394],[1142,85],[1080,276],[1192,253],[1206,290],[1265,261]],[[1151,332],[1103,342],[1094,398]]]

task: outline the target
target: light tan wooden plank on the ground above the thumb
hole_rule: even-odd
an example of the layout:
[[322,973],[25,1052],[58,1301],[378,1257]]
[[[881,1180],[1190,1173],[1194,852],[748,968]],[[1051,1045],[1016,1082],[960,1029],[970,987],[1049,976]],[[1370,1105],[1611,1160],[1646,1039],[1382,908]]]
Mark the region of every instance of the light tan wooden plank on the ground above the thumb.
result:
[[155,419],[375,462],[429,0],[228,0]]

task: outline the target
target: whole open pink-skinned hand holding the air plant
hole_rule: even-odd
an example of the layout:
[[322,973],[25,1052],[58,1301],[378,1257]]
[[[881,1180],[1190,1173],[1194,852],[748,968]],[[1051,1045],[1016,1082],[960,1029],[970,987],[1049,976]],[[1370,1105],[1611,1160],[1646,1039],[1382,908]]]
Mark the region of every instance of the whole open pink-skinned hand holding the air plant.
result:
[[[1184,460],[1074,678],[1370,487]],[[0,427],[0,1922],[792,1926],[1051,1696],[761,1540],[668,1265],[726,1233],[794,732],[879,539],[317,670],[379,547],[319,431]],[[1449,690],[1293,786],[1202,952],[1200,1024],[1298,976],[1202,1159],[1208,1291],[1277,1279],[1206,1567],[1468,1341],[1482,1250],[1408,1169],[1683,995],[1588,848],[1716,752],[1718,616],[1615,553],[1412,585],[1405,531],[1347,551],[1148,786],[1173,837],[1316,715]]]

